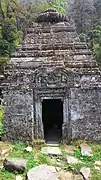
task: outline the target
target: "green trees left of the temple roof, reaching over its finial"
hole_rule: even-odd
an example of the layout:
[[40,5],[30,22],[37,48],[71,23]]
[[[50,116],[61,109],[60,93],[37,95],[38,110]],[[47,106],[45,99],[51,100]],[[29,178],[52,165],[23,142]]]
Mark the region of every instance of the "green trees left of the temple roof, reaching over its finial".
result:
[[48,8],[65,13],[66,0],[47,0],[44,3],[22,5],[19,0],[0,1],[0,56],[10,56],[22,40],[26,29],[38,14]]

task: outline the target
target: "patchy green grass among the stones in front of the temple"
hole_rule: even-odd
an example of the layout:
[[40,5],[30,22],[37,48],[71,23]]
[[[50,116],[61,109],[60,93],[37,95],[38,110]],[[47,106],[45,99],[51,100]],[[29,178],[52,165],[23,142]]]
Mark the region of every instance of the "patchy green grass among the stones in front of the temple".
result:
[[[80,171],[81,167],[90,167],[91,173],[92,173],[92,179],[91,180],[101,180],[101,172],[98,170],[95,170],[94,168],[94,162],[97,160],[101,160],[101,144],[89,144],[93,150],[93,156],[87,157],[82,156],[81,151],[79,148],[79,143],[74,143],[76,150],[74,151],[73,156],[78,158],[82,163],[80,164],[74,164],[69,165],[67,164],[66,156],[67,152],[65,151],[65,145],[60,146],[63,156],[60,157],[49,157],[47,155],[44,155],[40,152],[40,147],[33,148],[32,152],[26,152],[24,149],[26,145],[24,143],[15,143],[15,144],[8,144],[12,147],[11,152],[9,153],[9,157],[11,158],[24,158],[27,160],[27,170],[21,174],[25,180],[26,173],[29,169],[36,167],[40,164],[47,164],[47,165],[54,165],[54,166],[60,166],[62,169],[67,171],[72,171],[74,173],[78,173]],[[5,144],[5,149],[8,147],[7,144]],[[2,143],[1,143],[2,146]],[[4,148],[4,147],[3,147]],[[16,175],[18,175],[17,172],[9,172],[5,169],[2,169],[0,171],[0,180],[14,180]]]

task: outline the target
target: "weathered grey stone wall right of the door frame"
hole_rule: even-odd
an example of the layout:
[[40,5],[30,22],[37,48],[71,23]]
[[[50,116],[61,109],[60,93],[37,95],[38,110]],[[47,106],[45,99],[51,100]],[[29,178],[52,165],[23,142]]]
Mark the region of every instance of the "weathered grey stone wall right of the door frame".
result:
[[71,89],[73,139],[101,141],[101,88]]

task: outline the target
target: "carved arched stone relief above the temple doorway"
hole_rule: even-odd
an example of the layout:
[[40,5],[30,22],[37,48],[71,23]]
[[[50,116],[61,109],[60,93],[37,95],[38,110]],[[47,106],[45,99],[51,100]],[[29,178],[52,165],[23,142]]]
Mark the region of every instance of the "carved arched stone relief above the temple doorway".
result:
[[42,68],[35,75],[36,87],[70,87],[70,82],[73,84],[73,75],[65,69]]

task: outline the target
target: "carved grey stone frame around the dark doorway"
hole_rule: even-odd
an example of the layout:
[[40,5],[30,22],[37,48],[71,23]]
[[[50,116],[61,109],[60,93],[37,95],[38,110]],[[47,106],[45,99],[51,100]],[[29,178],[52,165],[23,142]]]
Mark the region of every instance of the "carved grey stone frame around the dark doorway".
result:
[[33,91],[34,98],[34,117],[33,117],[33,138],[44,139],[44,128],[42,120],[42,102],[44,99],[61,99],[63,102],[63,125],[62,125],[62,140],[70,138],[70,93],[69,89],[49,88],[36,89]]

